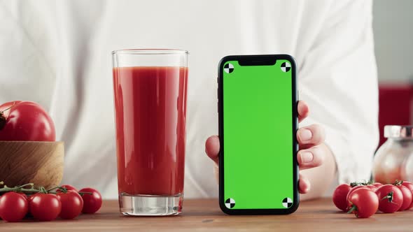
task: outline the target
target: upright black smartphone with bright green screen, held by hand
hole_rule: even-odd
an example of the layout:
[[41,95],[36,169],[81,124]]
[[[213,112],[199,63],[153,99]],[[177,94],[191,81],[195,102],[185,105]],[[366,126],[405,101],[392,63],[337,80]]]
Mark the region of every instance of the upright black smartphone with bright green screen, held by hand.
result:
[[219,204],[229,215],[290,214],[299,205],[296,64],[239,55],[218,65]]

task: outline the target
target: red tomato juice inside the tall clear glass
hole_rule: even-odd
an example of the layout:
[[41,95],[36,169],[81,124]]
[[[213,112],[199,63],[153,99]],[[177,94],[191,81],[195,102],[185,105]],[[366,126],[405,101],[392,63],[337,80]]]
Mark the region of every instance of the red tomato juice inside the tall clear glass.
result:
[[113,68],[120,194],[183,193],[188,68]]

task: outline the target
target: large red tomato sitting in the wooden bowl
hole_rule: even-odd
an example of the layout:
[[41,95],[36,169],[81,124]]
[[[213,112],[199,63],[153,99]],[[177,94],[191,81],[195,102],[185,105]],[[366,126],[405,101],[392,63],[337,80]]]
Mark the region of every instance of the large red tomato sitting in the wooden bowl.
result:
[[55,141],[55,124],[37,103],[10,101],[0,106],[0,140]]

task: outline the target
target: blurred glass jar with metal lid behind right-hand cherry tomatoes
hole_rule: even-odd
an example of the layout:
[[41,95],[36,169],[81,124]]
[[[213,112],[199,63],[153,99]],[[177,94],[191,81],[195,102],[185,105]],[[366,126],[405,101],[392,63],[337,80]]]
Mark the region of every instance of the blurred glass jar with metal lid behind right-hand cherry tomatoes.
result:
[[384,126],[386,142],[374,155],[375,182],[413,181],[413,126]]

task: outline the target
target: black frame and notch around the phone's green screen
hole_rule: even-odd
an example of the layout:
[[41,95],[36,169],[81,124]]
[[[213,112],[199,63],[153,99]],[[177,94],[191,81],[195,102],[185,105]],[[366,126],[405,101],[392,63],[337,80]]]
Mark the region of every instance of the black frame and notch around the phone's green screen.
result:
[[[225,147],[225,136],[223,131],[223,66],[227,61],[241,61],[244,64],[255,65],[266,64],[268,61],[273,61],[274,59],[284,59],[290,61],[291,72],[292,72],[292,104],[293,104],[293,205],[286,209],[237,209],[230,210],[225,207],[224,198],[224,147]],[[298,103],[298,93],[297,93],[297,65],[295,59],[290,55],[230,55],[223,57],[218,64],[218,133],[220,140],[220,151],[219,151],[219,205],[223,212],[228,215],[286,215],[295,212],[298,205],[300,204],[300,195],[298,194],[298,163],[297,163],[297,126],[298,126],[298,113],[297,113],[297,103]]]

